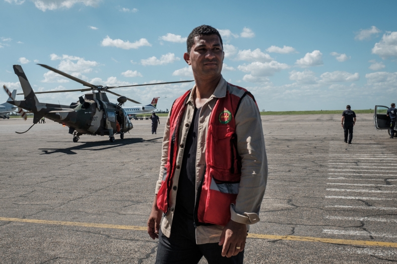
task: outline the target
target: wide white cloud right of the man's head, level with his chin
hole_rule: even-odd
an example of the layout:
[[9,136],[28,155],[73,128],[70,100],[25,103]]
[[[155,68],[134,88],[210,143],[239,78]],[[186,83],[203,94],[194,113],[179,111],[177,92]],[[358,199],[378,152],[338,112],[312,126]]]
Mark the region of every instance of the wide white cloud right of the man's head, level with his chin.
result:
[[250,73],[249,75],[251,76],[247,76],[246,78],[272,76],[275,72],[288,68],[289,66],[287,64],[275,60],[265,63],[255,61],[248,65],[244,64],[238,66],[238,69],[242,72]]

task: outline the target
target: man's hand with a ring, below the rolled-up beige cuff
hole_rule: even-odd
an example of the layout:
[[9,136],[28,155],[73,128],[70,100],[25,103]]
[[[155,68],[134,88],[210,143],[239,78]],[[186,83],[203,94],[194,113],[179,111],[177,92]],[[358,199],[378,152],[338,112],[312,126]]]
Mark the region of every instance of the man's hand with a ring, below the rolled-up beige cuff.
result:
[[[245,248],[247,239],[247,226],[230,220],[223,228],[220,236],[219,246],[223,245],[222,257],[236,256]],[[240,248],[240,249],[237,249]]]

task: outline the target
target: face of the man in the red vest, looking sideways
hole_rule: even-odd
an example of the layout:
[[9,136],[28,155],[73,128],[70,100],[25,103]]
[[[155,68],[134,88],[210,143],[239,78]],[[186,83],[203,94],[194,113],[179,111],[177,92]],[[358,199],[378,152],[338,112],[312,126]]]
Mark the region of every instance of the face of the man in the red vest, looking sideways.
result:
[[213,78],[221,74],[224,52],[217,35],[196,36],[195,44],[184,58],[192,65],[195,78]]

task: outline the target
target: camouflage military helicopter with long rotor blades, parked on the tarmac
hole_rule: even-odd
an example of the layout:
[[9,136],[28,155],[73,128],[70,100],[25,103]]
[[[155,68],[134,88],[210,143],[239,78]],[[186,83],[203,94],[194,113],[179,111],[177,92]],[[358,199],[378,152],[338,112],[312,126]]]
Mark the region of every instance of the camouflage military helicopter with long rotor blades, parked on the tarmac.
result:
[[[165,83],[154,83],[154,84],[138,84],[138,85],[125,85],[125,86],[102,86],[93,85],[83,80],[80,80],[74,76],[71,76],[58,69],[50,67],[44,64],[38,64],[44,68],[59,73],[66,78],[81,83],[83,86],[89,88],[75,89],[75,90],[63,90],[63,91],[48,91],[48,92],[36,92],[36,94],[46,93],[63,93],[63,92],[86,92],[84,98],[80,96],[79,101],[71,103],[70,106],[55,105],[40,103],[33,92],[32,87],[26,78],[25,73],[20,65],[13,65],[15,74],[19,78],[23,95],[25,99],[22,101],[8,101],[11,105],[17,106],[28,110],[34,114],[33,125],[39,122],[42,117],[48,118],[55,122],[62,124],[63,126],[69,127],[69,134],[73,135],[73,142],[77,142],[81,135],[108,135],[110,142],[115,141],[115,134],[120,133],[120,138],[124,138],[124,134],[132,129],[132,123],[128,118],[126,111],[121,107],[127,101],[131,101],[135,104],[140,104],[130,98],[119,95],[115,92],[109,91],[109,89],[121,88],[121,87],[132,87],[132,86],[145,86],[145,85],[159,85],[159,84],[170,84],[170,83],[184,83],[193,81],[178,81],[178,82],[165,82]],[[8,89],[4,85],[4,89],[9,93]],[[118,104],[109,102],[106,92],[118,96]],[[18,94],[19,95],[19,94]],[[118,127],[120,126],[120,128]],[[29,129],[30,129],[29,128]],[[25,132],[29,131],[26,130]],[[16,132],[22,134],[25,132]]]

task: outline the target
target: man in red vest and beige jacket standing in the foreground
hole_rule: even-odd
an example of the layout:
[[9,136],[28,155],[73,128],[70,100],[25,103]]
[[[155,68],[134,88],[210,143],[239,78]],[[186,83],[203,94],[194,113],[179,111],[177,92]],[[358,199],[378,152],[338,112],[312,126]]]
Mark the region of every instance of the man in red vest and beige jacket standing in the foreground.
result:
[[223,79],[215,28],[195,28],[187,48],[196,85],[170,110],[147,232],[159,238],[156,264],[197,264],[203,256],[242,264],[267,181],[261,115],[251,93]]

